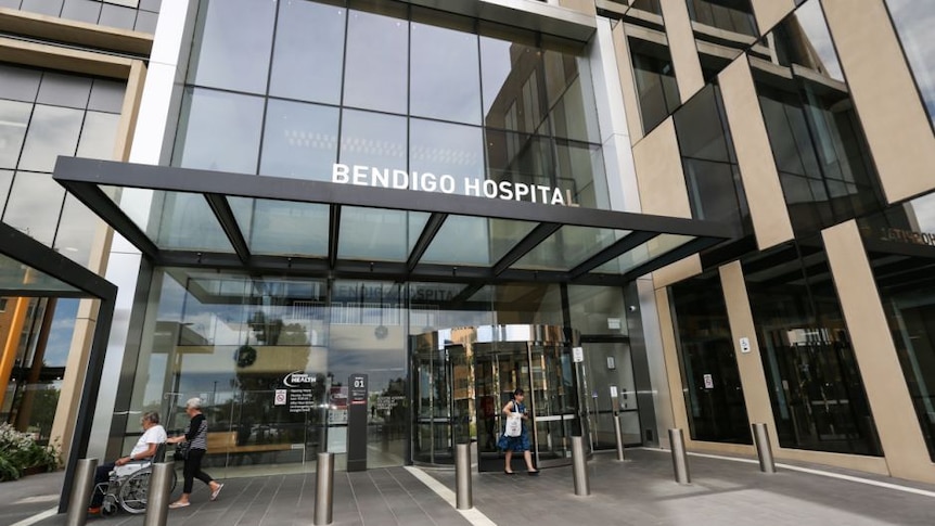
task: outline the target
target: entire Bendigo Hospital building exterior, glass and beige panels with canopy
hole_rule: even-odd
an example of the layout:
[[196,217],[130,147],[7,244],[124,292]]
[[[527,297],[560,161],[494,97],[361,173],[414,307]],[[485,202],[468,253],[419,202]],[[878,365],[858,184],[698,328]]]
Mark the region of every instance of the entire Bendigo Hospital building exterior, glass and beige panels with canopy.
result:
[[925,2],[38,3],[0,42],[0,418],[73,467],[198,396],[226,476],[312,469],[367,374],[370,466],[499,470],[523,387],[542,465],[620,407],[631,445],[766,422],[935,482]]

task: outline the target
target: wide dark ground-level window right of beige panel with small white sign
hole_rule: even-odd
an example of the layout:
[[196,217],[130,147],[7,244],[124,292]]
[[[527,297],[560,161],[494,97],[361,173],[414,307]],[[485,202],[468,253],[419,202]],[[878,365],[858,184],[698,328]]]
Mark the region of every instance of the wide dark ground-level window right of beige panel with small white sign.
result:
[[742,262],[779,444],[882,456],[821,240]]

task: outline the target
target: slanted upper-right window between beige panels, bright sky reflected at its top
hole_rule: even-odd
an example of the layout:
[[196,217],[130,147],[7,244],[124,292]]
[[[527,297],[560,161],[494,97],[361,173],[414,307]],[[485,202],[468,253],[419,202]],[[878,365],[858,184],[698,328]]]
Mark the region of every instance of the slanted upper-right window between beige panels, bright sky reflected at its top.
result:
[[881,209],[876,169],[820,3],[804,3],[764,43],[787,73],[754,67],[793,228],[814,233]]

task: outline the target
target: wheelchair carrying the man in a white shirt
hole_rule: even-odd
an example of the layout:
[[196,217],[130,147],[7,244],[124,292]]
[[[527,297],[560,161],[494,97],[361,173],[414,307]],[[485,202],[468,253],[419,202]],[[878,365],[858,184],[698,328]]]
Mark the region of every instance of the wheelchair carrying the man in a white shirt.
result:
[[[162,444],[151,460],[114,466],[107,482],[94,486],[94,491],[104,495],[101,515],[111,516],[117,513],[118,506],[135,515],[144,513],[150,491],[150,476],[153,473],[153,460],[162,461],[165,456],[166,445]],[[177,476],[172,470],[169,492],[176,489],[176,483]]]

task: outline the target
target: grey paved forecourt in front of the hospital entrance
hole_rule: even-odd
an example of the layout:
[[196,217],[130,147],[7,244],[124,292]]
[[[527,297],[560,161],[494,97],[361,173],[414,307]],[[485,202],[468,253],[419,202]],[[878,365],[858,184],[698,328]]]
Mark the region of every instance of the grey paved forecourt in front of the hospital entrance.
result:
[[[454,472],[389,467],[364,473],[335,473],[334,523],[338,526],[522,525],[933,525],[935,487],[856,475],[871,483],[802,473],[776,475],[758,466],[692,456],[692,484],[673,482],[668,452],[636,449],[628,461],[597,454],[589,463],[591,496],[576,497],[571,467],[543,470],[538,477],[517,472],[474,476],[475,511],[465,517],[453,509]],[[815,466],[811,466],[815,467]],[[820,469],[820,467],[819,467]],[[40,478],[44,477],[44,478]],[[56,478],[57,477],[57,478]],[[439,496],[420,480],[437,486]],[[15,524],[50,509],[49,495],[61,487],[61,474],[37,475],[0,485],[0,525]],[[57,486],[52,485],[57,484]],[[315,474],[226,480],[216,502],[195,483],[193,504],[169,512],[170,525],[308,525],[312,522]],[[9,488],[9,489],[8,489]],[[29,492],[34,495],[29,495]],[[178,489],[176,490],[178,492]],[[46,496],[46,497],[42,497]],[[38,497],[38,500],[28,500]],[[446,498],[447,497],[447,500]],[[24,499],[27,499],[24,501]],[[43,499],[46,499],[43,501]],[[479,512],[479,513],[478,513]],[[473,523],[472,523],[473,521]],[[65,524],[64,515],[39,521]],[[119,513],[91,518],[91,526],[141,525],[142,516]]]

